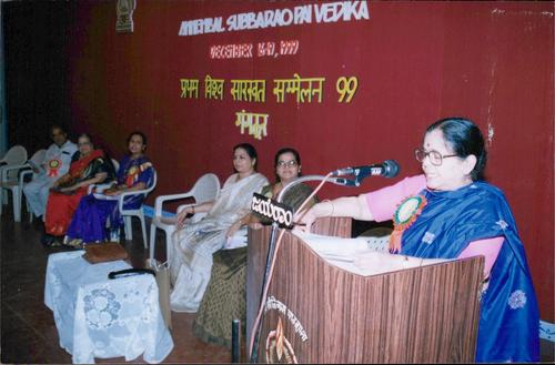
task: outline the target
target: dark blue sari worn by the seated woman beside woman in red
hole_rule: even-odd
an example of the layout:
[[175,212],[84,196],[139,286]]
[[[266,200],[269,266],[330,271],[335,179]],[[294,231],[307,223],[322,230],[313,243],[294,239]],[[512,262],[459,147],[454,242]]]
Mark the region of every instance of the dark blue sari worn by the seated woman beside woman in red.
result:
[[[149,159],[140,156],[132,160],[129,155],[120,162],[117,179],[118,185],[131,187],[140,182],[147,186],[152,184],[153,169]],[[125,209],[138,209],[144,196],[142,194],[125,197]],[[117,200],[97,199],[93,194],[83,196],[73,214],[67,236],[70,240],[81,239],[84,243],[103,242],[109,239],[107,221],[112,232],[120,231],[123,220],[120,216]]]

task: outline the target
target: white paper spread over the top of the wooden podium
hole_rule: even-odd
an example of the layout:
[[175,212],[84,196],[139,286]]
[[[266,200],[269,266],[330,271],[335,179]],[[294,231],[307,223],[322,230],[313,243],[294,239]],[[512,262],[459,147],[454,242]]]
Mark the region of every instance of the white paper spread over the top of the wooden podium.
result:
[[422,260],[390,254],[383,244],[373,237],[342,239],[313,233],[293,232],[299,239],[330,264],[353,274],[370,276],[411,267],[446,262],[448,260]]

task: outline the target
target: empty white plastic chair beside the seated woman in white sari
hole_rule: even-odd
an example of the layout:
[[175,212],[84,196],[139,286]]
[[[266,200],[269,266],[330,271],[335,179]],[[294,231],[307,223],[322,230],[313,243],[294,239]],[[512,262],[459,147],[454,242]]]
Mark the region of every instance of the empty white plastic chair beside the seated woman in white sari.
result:
[[[188,206],[198,205],[215,200],[219,193],[220,180],[213,173],[208,173],[199,178],[193,187],[185,193],[158,196],[154,203],[154,216],[152,217],[152,223],[150,224],[150,258],[154,258],[157,229],[160,229],[165,232],[167,260],[170,260],[171,250],[169,250],[169,247],[171,244],[171,235],[175,231],[176,216],[162,216],[162,204],[164,202],[193,197],[194,203],[183,204],[178,207],[176,214],[179,214],[179,212]],[[194,214],[193,222],[201,220],[204,215],[206,215],[206,213]]]

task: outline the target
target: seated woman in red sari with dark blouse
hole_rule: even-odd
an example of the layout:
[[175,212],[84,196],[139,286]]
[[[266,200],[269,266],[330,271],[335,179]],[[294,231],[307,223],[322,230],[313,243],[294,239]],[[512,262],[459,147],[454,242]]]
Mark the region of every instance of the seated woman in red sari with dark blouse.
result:
[[63,236],[71,216],[90,184],[113,179],[113,166],[104,152],[94,150],[91,138],[83,133],[78,140],[79,151],[71,160],[70,170],[58,179],[48,196],[43,237],[46,245],[59,245],[57,237]]

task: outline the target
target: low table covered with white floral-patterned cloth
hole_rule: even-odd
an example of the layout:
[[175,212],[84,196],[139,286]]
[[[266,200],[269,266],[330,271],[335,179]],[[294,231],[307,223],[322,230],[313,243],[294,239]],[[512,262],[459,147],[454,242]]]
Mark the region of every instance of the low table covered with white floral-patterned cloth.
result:
[[52,310],[60,346],[74,364],[94,357],[143,354],[147,363],[162,362],[173,339],[162,318],[153,275],[110,280],[108,273],[130,268],[124,261],[90,264],[84,251],[51,254],[48,258],[44,304]]

